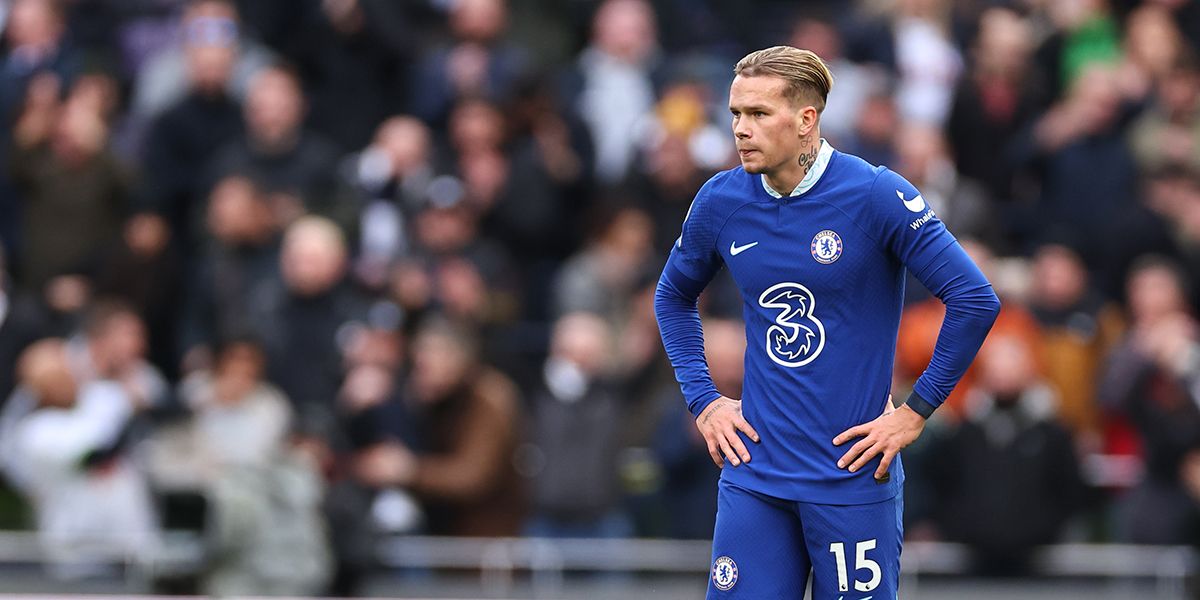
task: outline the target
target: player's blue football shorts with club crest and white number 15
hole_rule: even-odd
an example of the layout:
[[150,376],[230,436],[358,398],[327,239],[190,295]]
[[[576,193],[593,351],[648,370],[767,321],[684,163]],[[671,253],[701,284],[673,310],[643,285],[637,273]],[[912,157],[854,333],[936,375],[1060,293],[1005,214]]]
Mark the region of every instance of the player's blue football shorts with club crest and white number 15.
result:
[[874,504],[782,500],[720,482],[708,599],[894,600],[904,496]]

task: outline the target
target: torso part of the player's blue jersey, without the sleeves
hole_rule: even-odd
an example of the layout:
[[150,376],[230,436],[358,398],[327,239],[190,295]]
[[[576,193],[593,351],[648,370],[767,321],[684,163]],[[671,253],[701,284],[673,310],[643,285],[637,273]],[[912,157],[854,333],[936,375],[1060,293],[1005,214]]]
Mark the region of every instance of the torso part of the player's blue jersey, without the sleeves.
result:
[[869,181],[833,167],[796,197],[772,197],[757,176],[726,188],[743,202],[715,239],[743,298],[743,409],[773,443],[725,476],[808,502],[875,502],[889,492],[836,469],[832,439],[883,408],[904,270],[865,229]]

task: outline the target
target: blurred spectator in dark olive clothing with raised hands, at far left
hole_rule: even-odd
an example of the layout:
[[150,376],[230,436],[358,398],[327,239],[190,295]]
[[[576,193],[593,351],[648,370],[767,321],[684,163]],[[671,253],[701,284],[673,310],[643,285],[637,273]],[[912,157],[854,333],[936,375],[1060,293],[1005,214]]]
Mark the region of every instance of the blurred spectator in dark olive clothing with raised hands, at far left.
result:
[[20,274],[26,289],[65,272],[90,271],[119,235],[128,180],[107,150],[104,107],[94,89],[76,85],[59,102],[59,79],[38,76],[17,121],[11,167],[25,198]]

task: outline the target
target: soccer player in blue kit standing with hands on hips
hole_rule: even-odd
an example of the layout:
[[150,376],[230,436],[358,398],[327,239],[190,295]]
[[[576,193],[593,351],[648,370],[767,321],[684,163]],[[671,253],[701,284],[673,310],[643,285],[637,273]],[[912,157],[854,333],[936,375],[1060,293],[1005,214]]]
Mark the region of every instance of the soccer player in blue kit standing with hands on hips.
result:
[[[654,308],[718,466],[708,598],[894,599],[898,452],[924,428],[1000,311],[991,286],[904,178],[821,138],[832,77],[786,46],[733,70],[742,167],[692,202]],[[696,300],[721,265],[743,299],[743,398],[704,364]],[[905,270],[946,304],[929,368],[899,408],[889,386]]]

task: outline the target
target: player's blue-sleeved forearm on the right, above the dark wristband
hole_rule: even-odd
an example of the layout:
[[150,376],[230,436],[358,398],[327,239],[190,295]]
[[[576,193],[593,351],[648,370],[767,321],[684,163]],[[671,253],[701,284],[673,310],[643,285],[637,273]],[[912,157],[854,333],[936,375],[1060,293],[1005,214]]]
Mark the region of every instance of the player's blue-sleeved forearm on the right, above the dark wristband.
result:
[[907,402],[926,418],[958,385],[1000,314],[1000,299],[991,283],[958,244],[940,259],[922,281],[946,302],[946,319],[929,367],[913,385],[917,398]]

